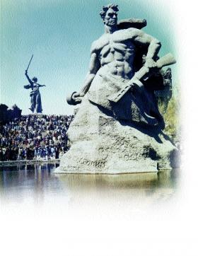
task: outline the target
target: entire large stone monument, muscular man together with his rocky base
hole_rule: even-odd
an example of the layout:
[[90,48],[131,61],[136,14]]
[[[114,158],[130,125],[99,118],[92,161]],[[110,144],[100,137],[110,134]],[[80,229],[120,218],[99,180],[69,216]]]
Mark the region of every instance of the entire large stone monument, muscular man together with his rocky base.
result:
[[117,11],[115,5],[103,6],[105,34],[92,44],[83,88],[67,100],[81,105],[68,131],[71,149],[57,173],[144,173],[175,167],[177,149],[162,132],[154,95],[163,83],[159,68],[175,60],[170,54],[157,57],[161,42],[151,35],[120,29]]

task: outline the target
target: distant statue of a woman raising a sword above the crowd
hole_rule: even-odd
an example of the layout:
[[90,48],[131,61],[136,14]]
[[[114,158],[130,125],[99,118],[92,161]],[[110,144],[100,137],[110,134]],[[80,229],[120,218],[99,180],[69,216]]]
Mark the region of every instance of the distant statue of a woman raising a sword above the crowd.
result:
[[[30,66],[30,63],[33,59],[33,55],[30,59],[30,62],[28,64],[28,68]],[[41,104],[41,98],[40,98],[40,91],[39,88],[43,87],[45,85],[41,85],[39,83],[37,83],[37,78],[34,76],[32,79],[30,79],[30,77],[28,76],[28,68],[25,70],[25,76],[28,78],[28,81],[30,84],[28,84],[27,86],[24,86],[25,89],[31,89],[30,92],[30,107],[29,109],[33,112],[33,113],[42,113],[42,104]]]

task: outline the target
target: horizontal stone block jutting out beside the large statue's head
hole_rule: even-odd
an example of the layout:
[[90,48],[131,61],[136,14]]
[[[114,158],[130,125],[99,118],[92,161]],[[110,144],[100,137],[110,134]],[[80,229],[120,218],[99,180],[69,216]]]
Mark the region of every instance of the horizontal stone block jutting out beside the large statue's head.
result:
[[119,30],[121,29],[127,29],[127,28],[144,28],[146,27],[146,20],[142,18],[126,18],[124,20],[120,20],[117,23],[117,28]]

